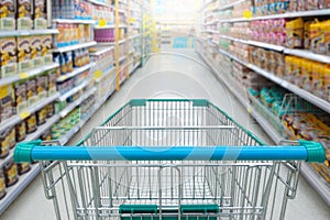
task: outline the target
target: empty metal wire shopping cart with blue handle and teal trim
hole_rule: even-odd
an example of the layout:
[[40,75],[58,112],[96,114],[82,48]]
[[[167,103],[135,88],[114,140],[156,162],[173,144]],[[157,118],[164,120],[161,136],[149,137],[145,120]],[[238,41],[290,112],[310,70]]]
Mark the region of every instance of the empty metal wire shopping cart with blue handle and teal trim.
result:
[[77,146],[29,142],[14,158],[41,161],[57,219],[213,220],[284,219],[298,161],[326,157],[265,146],[207,100],[131,100]]

